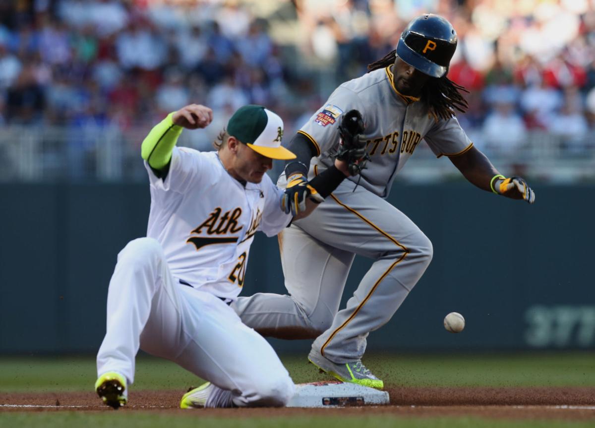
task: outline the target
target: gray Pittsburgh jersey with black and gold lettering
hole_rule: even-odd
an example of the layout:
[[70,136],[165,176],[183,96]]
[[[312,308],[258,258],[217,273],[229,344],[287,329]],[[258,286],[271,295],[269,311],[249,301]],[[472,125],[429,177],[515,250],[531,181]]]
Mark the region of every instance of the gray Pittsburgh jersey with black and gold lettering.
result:
[[[422,139],[438,157],[462,154],[472,146],[456,117],[437,120],[423,102],[403,99],[394,89],[390,67],[386,67],[343,83],[300,129],[318,150],[316,162],[333,164],[330,155],[339,143],[341,115],[353,109],[364,118],[364,138],[371,157],[360,185],[382,198],[388,196],[394,177]],[[349,179],[357,182],[359,177]]]

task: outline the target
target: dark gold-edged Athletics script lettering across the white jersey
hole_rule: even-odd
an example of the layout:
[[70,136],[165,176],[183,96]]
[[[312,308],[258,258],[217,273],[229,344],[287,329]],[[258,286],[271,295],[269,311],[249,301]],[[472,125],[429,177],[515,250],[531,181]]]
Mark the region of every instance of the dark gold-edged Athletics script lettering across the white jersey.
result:
[[[242,215],[242,208],[237,207],[223,213],[221,207],[215,208],[211,214],[201,223],[200,226],[190,232],[191,235],[186,240],[186,243],[193,243],[196,249],[201,249],[205,245],[212,245],[216,243],[233,243],[240,238],[236,236],[220,236],[220,235],[234,235],[243,229],[242,224],[238,224],[238,219]],[[258,225],[262,219],[262,213],[259,209],[252,214],[250,218],[250,227],[246,231],[246,235],[242,242],[252,238],[258,229]],[[206,236],[205,236],[206,235]]]

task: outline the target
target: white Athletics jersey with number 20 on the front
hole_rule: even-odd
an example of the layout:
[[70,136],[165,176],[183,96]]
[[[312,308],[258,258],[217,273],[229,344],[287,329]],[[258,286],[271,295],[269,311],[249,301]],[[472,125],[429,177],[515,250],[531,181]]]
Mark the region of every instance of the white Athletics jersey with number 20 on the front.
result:
[[239,295],[256,231],[277,235],[291,215],[280,209],[283,190],[231,177],[217,152],[174,148],[162,180],[145,162],[151,182],[147,236],[161,244],[171,273],[215,296]]

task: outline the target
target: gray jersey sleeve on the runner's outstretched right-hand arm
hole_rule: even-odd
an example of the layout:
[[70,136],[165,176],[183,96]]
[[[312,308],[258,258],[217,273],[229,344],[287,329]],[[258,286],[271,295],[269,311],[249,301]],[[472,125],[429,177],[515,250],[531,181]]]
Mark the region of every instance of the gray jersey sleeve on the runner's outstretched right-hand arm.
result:
[[437,157],[462,155],[473,146],[456,117],[439,120],[424,139]]

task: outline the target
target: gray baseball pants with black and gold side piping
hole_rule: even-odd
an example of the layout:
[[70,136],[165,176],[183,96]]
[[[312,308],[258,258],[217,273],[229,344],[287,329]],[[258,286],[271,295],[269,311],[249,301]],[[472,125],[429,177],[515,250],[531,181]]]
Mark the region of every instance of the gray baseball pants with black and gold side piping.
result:
[[[405,214],[349,180],[278,238],[289,295],[257,293],[233,308],[264,336],[316,338],[312,349],[338,364],[364,355],[368,333],[390,320],[432,258],[430,240]],[[356,254],[375,261],[339,311]]]

